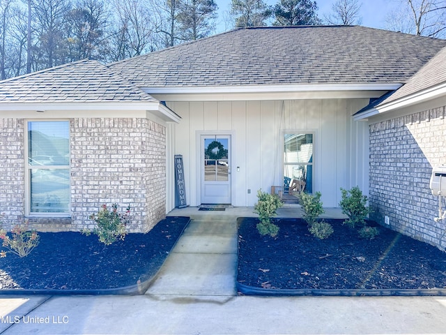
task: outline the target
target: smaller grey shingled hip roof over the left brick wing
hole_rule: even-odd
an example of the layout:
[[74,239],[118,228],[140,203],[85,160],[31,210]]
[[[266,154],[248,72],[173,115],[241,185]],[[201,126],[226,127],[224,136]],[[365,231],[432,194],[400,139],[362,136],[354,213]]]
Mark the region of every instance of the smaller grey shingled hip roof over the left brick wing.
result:
[[156,101],[98,61],[83,60],[0,82],[0,103]]

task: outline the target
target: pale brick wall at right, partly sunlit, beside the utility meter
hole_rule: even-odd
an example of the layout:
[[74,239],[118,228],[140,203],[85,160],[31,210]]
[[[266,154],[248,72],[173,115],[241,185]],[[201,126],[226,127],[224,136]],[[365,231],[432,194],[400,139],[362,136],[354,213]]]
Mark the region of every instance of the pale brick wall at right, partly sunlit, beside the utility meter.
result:
[[429,188],[433,166],[446,163],[445,107],[371,124],[369,132],[371,218],[384,225],[389,216],[390,228],[445,248]]

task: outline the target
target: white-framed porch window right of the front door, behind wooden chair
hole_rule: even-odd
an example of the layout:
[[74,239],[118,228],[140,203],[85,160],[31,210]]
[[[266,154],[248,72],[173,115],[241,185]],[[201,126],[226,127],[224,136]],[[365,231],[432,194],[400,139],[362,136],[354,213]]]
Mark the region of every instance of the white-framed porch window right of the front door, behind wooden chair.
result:
[[284,144],[284,191],[295,179],[305,183],[305,193],[313,193],[313,134],[285,134]]

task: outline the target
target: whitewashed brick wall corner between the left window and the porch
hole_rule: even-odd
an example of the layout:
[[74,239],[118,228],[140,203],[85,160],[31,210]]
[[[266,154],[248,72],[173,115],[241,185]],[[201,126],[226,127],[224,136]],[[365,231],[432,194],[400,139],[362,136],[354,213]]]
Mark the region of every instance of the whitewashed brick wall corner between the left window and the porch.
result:
[[73,119],[72,227],[92,228],[102,204],[131,206],[130,231],[146,232],[164,218],[165,127],[148,119]]

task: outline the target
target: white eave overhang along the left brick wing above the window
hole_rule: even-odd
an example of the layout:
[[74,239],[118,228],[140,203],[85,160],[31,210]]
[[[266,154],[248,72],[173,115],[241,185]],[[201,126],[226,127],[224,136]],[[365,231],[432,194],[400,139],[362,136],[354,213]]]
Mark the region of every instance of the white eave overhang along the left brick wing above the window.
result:
[[2,117],[70,118],[70,117],[149,117],[164,122],[180,121],[180,116],[160,101],[98,102],[0,102]]

